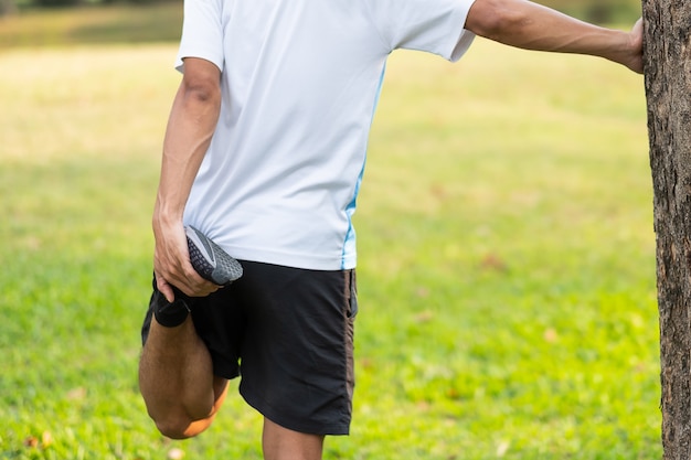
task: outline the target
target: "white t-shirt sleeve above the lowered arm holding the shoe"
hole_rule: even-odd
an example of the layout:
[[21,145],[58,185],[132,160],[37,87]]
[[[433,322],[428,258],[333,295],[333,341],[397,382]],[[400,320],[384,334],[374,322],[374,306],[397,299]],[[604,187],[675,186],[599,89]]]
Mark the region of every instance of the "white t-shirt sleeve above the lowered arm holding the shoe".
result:
[[185,57],[199,57],[223,69],[223,0],[184,0],[182,38],[176,68]]

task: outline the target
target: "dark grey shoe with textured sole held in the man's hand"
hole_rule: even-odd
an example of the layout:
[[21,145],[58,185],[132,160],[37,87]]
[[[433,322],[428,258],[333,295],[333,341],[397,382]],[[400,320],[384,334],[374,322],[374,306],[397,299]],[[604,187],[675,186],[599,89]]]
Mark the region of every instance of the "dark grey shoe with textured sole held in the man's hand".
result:
[[243,267],[219,245],[193,226],[184,227],[190,250],[190,261],[204,279],[227,286],[243,276]]

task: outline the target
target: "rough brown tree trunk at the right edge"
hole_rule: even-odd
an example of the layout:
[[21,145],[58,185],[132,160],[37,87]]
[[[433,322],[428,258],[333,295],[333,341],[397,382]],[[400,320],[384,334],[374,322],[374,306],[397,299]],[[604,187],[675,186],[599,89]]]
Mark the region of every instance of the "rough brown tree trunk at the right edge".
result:
[[691,459],[691,3],[642,0],[655,191],[662,446]]

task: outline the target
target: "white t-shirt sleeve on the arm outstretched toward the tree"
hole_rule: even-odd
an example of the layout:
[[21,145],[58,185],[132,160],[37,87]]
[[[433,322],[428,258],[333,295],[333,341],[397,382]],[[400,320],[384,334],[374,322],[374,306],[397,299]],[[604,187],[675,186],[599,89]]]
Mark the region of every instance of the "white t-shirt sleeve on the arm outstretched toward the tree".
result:
[[475,39],[465,29],[475,0],[370,0],[391,50],[418,50],[458,61]]

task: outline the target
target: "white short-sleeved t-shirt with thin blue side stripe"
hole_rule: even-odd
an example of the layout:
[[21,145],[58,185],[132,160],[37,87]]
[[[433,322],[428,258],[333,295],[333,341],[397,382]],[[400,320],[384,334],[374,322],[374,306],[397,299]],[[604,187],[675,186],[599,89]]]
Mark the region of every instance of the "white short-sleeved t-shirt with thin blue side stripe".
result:
[[386,57],[456,61],[474,0],[185,0],[177,66],[222,71],[184,222],[238,259],[355,266],[351,217]]

